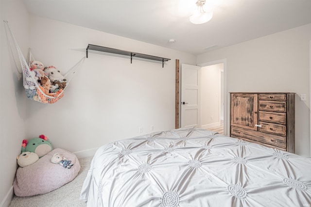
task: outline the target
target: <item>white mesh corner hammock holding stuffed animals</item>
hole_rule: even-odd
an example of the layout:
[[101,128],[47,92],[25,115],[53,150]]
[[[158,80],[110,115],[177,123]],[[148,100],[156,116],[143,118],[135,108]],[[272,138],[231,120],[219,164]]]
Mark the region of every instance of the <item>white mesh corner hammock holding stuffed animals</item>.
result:
[[4,23],[7,25],[7,28],[9,29],[9,32],[12,36],[12,40],[14,42],[15,48],[18,53],[18,58],[21,64],[21,69],[22,69],[22,74],[23,74],[23,86],[26,90],[26,96],[29,99],[38,101],[40,103],[50,103],[50,104],[55,103],[56,101],[61,99],[64,96],[64,92],[66,88],[68,87],[69,82],[73,77],[73,74],[76,72],[78,66],[80,65],[80,63],[83,62],[85,57],[83,57],[66,74],[63,75],[66,78],[66,86],[63,90],[57,91],[56,95],[54,96],[46,95],[44,92],[45,91],[44,88],[38,83],[37,80],[35,80],[34,73],[30,70],[30,63],[32,61],[35,61],[35,58],[31,53],[31,49],[28,50],[28,58],[27,58],[28,62],[27,62],[17,44],[17,41],[13,35],[13,32],[10,29],[8,22],[4,21]]

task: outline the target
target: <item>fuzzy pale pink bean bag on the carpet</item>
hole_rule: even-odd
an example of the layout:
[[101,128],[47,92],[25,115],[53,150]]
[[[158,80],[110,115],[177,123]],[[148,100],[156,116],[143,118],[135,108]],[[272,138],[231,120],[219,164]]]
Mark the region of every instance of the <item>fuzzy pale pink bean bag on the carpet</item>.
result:
[[[71,160],[70,169],[51,162],[55,153]],[[80,171],[77,157],[64,149],[56,148],[40,158],[34,164],[18,167],[13,183],[14,193],[19,197],[44,194],[54,191],[75,178]]]

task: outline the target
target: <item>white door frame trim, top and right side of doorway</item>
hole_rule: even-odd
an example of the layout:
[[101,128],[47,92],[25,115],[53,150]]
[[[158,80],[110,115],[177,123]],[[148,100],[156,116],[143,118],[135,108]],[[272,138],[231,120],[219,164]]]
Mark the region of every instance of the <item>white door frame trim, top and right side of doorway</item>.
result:
[[227,59],[220,59],[216,61],[211,61],[207,63],[197,64],[197,66],[205,67],[209,65],[214,64],[224,64],[224,135],[227,135],[227,117],[229,117],[228,111],[227,111],[227,100],[228,100],[228,94],[227,94]]

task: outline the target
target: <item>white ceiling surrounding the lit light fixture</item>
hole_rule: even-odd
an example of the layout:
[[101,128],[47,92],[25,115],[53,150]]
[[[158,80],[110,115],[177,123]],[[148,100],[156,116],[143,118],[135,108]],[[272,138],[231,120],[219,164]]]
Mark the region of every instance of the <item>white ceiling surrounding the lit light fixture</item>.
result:
[[201,25],[189,21],[196,0],[23,1],[36,16],[195,55],[311,23],[311,0],[207,0],[213,18]]

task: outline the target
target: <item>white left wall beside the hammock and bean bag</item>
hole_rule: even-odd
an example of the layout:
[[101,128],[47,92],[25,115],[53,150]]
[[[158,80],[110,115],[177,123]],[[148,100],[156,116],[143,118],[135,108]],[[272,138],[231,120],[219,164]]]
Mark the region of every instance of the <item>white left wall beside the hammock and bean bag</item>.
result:
[[22,140],[26,138],[26,98],[21,75],[17,72],[21,66],[18,57],[12,56],[12,51],[17,53],[15,48],[9,48],[3,20],[9,22],[19,47],[27,54],[29,16],[22,0],[1,0],[0,17],[0,207],[6,207],[13,196],[16,157],[20,154]]

